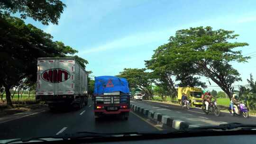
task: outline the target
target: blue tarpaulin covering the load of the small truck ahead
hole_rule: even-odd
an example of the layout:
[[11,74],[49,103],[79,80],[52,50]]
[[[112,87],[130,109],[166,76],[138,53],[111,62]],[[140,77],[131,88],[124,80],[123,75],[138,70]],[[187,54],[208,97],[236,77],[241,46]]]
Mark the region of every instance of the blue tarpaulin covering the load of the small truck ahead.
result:
[[129,94],[128,81],[125,78],[115,76],[99,76],[95,77],[94,95],[103,95],[103,93],[121,91]]

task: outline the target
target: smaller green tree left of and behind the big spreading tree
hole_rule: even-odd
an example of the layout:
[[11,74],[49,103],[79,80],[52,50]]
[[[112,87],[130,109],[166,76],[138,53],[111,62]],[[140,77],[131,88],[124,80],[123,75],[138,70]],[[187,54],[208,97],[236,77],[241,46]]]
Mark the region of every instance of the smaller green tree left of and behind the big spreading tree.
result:
[[198,69],[193,67],[193,63],[181,61],[174,63],[171,57],[168,56],[170,45],[165,44],[159,46],[154,52],[151,60],[145,61],[146,67],[152,70],[152,74],[156,81],[161,84],[172,96],[177,95],[175,81],[178,81],[179,87],[197,87],[206,88],[204,82],[199,81],[199,77],[194,75],[198,73]]

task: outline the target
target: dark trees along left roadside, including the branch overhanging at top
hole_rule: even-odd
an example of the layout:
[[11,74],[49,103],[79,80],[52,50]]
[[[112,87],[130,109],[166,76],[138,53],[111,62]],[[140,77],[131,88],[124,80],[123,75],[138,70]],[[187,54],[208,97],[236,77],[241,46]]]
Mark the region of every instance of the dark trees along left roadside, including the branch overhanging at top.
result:
[[[12,90],[21,94],[20,101],[24,100],[23,91],[35,91],[38,57],[74,57],[83,68],[88,64],[75,55],[78,51],[73,47],[53,41],[53,36],[23,21],[30,17],[43,25],[57,25],[65,7],[61,0],[0,2],[0,99],[5,100],[2,104],[13,108],[16,95]],[[12,16],[17,13],[20,18]]]

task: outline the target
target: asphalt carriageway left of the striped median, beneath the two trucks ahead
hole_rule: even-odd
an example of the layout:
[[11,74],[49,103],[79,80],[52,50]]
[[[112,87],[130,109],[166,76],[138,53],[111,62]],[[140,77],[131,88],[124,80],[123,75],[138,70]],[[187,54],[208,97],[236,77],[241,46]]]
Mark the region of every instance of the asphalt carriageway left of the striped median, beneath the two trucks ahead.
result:
[[41,111],[27,117],[0,123],[0,139],[31,138],[72,134],[80,131],[97,133],[155,132],[154,124],[130,112],[129,119],[104,117],[95,121],[93,103],[80,110]]

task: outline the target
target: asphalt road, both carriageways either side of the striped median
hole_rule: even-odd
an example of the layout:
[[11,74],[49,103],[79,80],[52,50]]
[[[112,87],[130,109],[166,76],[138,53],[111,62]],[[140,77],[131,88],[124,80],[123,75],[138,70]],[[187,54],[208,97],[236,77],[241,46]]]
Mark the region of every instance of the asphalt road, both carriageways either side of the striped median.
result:
[[[206,115],[200,108],[183,109],[180,106],[169,105],[150,101],[131,101],[131,103],[154,110],[164,115],[188,122],[191,126],[219,125],[221,123],[238,122],[244,124],[256,124],[256,117],[244,118],[231,116],[229,113],[221,113],[219,117],[213,114]],[[15,115],[15,117],[18,117]],[[88,106],[80,110],[64,110],[51,112],[48,109],[27,114],[21,118],[9,121],[1,121],[0,140],[13,138],[31,138],[42,136],[55,136],[73,134],[87,131],[96,133],[126,133],[126,132],[155,132],[162,129],[157,124],[146,118],[130,112],[129,119],[120,117],[104,117],[95,121],[93,103],[89,99]]]

